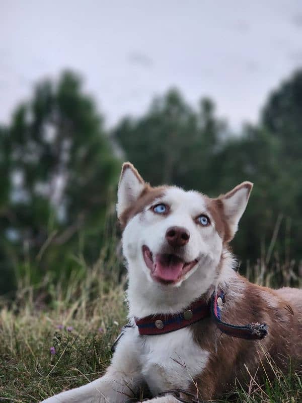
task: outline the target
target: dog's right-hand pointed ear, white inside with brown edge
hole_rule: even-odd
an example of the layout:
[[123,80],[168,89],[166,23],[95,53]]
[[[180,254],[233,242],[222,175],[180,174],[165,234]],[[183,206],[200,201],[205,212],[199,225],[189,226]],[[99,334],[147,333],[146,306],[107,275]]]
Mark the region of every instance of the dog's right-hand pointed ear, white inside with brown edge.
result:
[[219,196],[223,205],[225,221],[228,224],[228,231],[225,234],[227,242],[231,241],[236,234],[239,220],[247,207],[252,188],[253,183],[242,182],[230,192]]

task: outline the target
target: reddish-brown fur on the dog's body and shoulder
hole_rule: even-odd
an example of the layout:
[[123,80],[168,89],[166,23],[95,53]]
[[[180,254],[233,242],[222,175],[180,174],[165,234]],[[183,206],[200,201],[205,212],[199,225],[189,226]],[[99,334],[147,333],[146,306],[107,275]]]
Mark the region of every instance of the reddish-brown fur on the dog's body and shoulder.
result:
[[[268,335],[262,341],[249,341],[222,334],[211,319],[194,324],[196,343],[210,352],[206,368],[191,385],[193,393],[197,385],[203,399],[218,398],[234,386],[236,378],[244,384],[256,373],[273,377],[268,356],[280,368],[287,368],[291,360],[302,370],[302,290],[274,291],[237,276],[236,286],[230,284],[224,290],[222,320],[241,325],[265,322]],[[238,286],[244,296],[238,295]]]

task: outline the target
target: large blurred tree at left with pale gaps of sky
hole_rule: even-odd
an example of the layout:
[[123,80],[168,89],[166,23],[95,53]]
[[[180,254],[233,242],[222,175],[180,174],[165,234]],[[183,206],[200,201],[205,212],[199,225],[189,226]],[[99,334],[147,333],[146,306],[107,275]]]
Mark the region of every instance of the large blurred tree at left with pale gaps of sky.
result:
[[31,262],[36,283],[68,275],[74,255],[98,256],[120,163],[81,86],[70,72],[42,82],[0,131],[1,276],[14,266],[23,278]]

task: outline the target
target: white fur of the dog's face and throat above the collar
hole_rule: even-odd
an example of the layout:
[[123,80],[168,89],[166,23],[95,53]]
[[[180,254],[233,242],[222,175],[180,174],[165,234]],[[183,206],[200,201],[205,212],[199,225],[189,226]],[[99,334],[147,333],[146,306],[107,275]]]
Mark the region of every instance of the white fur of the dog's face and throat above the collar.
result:
[[[222,240],[215,230],[215,223],[206,209],[203,196],[194,191],[185,192],[172,187],[153,204],[157,203],[169,205],[168,217],[154,214],[149,206],[146,206],[142,213],[130,220],[123,234],[123,253],[129,271],[127,294],[130,316],[179,312],[204,294],[213,285],[216,277]],[[194,219],[200,214],[210,217],[210,226],[202,227],[195,223]],[[174,225],[184,227],[190,232],[184,253],[185,261],[198,258],[199,262],[187,273],[185,279],[177,285],[167,287],[151,278],[141,248],[142,245],[147,245],[154,255],[159,253],[165,243],[167,229]]]

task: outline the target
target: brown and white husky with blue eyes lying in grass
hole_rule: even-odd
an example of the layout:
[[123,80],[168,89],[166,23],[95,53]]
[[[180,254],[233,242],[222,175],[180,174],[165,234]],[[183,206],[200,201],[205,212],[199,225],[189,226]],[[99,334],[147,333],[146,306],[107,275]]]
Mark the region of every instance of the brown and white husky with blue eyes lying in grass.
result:
[[102,378],[45,402],[125,403],[144,385],[150,403],[208,400],[235,379],[269,376],[268,357],[281,368],[301,365],[302,290],[260,287],[234,270],[228,243],[252,187],[209,198],[151,187],[123,165],[117,215],[130,324]]

